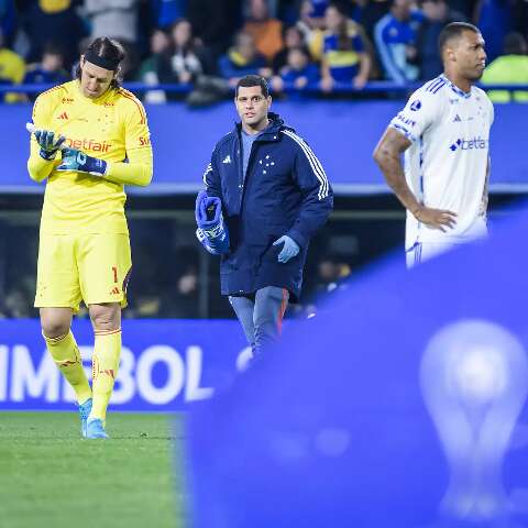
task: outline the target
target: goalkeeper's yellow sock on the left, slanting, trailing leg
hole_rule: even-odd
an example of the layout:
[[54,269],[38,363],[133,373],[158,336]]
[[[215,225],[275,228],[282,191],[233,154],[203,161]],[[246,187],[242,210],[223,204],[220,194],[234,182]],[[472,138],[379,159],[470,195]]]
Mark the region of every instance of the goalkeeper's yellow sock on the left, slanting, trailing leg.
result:
[[53,361],[75,391],[77,402],[84,404],[87,399],[91,398],[91,389],[85,370],[82,369],[79,348],[77,346],[72,330],[58,338],[47,338],[44,336],[44,340],[46,341],[46,346],[52,354]]

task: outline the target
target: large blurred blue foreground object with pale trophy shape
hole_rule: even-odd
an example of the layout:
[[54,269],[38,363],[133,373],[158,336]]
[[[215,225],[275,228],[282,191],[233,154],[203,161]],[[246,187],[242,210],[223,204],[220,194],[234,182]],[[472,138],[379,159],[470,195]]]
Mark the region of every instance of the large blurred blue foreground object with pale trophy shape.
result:
[[194,526],[528,526],[527,226],[371,268],[198,404]]

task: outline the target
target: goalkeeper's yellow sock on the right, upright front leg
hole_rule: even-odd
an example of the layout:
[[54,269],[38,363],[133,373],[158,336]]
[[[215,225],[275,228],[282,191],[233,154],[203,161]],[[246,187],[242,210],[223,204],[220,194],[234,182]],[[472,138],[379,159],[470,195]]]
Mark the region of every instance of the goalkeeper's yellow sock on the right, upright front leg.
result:
[[121,329],[108,332],[96,332],[96,344],[92,358],[94,405],[89,420],[99,418],[105,421],[107,407],[118,375],[121,355]]

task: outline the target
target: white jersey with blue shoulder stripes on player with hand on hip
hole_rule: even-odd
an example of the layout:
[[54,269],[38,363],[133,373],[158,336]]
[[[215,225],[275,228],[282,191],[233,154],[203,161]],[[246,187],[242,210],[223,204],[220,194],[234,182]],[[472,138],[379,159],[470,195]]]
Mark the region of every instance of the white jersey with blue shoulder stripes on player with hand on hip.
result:
[[442,232],[407,211],[406,249],[441,240],[464,242],[486,233],[490,129],[493,105],[473,86],[465,94],[441,75],[416,90],[389,127],[413,144],[405,152],[405,176],[426,207],[457,213]]

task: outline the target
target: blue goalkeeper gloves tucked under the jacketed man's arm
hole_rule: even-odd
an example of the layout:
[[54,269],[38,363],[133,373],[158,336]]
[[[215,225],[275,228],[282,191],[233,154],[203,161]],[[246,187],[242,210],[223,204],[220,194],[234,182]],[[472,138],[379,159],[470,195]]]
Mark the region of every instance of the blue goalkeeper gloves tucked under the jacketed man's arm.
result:
[[229,231],[223,223],[220,198],[207,196],[201,190],[196,198],[195,218],[196,235],[201,245],[216,255],[229,253]]

